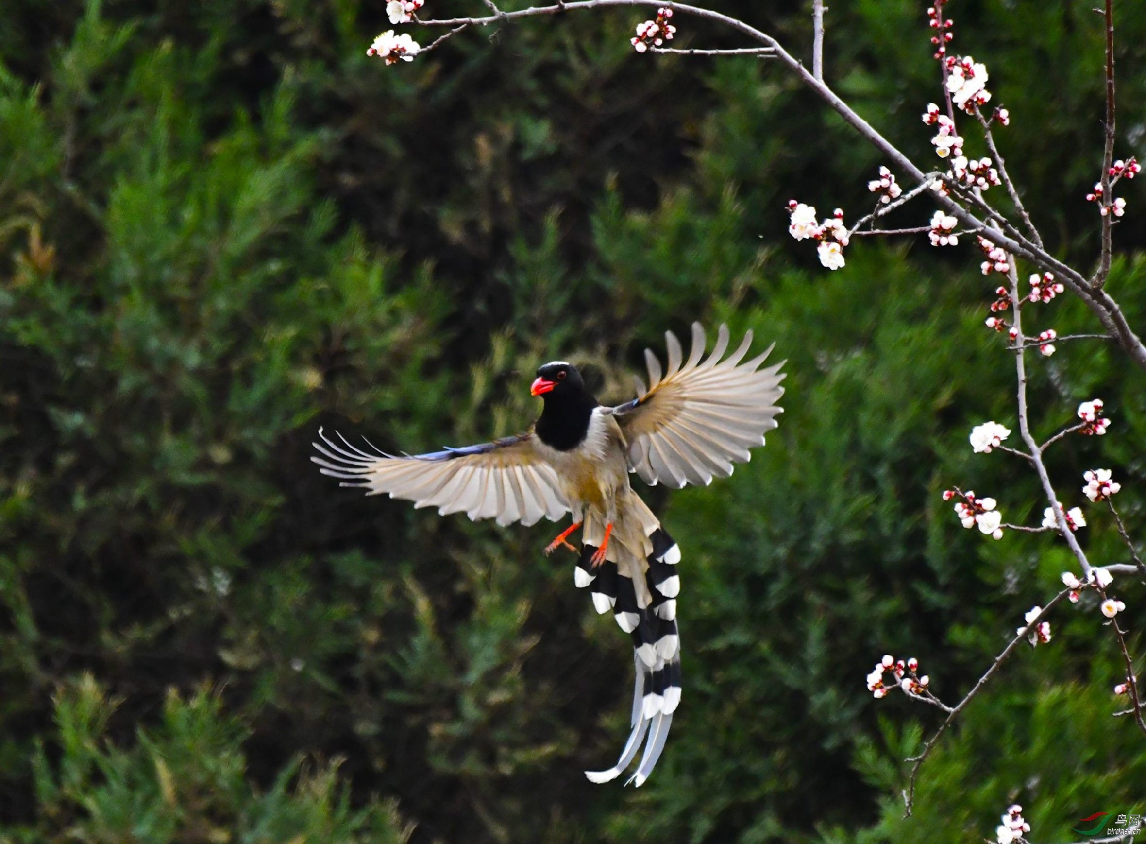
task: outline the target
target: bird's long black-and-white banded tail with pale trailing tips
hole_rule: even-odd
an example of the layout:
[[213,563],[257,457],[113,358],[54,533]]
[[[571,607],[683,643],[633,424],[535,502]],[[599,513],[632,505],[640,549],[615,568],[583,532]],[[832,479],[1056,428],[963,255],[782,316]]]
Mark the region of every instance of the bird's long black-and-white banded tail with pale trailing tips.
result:
[[[613,767],[586,771],[592,782],[617,779],[636,758],[643,742],[641,764],[626,784],[644,784],[665,749],[673,713],[681,704],[681,634],[676,624],[676,597],[681,592],[676,563],[681,549],[661,528],[649,539],[652,553],[644,566],[605,562],[592,568],[589,560],[596,548],[586,545],[574,571],[578,586],[591,587],[597,612],[612,610],[620,628],[633,636],[636,667],[633,732]],[[642,572],[641,568],[645,570]]]

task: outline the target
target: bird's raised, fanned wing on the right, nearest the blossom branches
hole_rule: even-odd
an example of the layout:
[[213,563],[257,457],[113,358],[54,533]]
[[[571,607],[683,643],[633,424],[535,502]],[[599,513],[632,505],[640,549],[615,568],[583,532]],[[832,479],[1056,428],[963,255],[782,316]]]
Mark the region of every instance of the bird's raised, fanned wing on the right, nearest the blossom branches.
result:
[[[763,445],[764,433],[776,428],[783,408],[776,401],[783,361],[764,369],[760,365],[771,352],[744,360],[752,345],[748,331],[732,354],[728,349],[728,326],[721,326],[716,345],[704,361],[705,331],[692,323],[692,351],[688,360],[672,331],[668,370],[645,350],[649,388],[637,378],[638,398],[613,408],[628,443],[629,466],[646,483],[673,487],[709,484],[714,477],[732,474],[732,463],[751,459],[749,448]],[[683,360],[683,364],[682,364]]]

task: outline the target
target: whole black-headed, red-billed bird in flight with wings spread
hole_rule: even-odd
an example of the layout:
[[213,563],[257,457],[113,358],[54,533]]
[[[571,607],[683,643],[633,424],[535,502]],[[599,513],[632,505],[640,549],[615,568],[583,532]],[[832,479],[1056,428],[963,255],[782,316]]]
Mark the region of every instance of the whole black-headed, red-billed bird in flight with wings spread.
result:
[[[681,549],[629,484],[635,472],[650,485],[674,489],[712,483],[747,462],[749,450],[776,428],[784,390],[783,366],[761,368],[771,352],[745,360],[752,331],[727,358],[728,326],[705,354],[705,333],[692,325],[692,349],[665,333],[668,368],[645,350],[649,385],[639,377],[637,398],[615,407],[601,405],[572,364],[554,361],[537,369],[529,392],[542,411],[526,433],[464,448],[399,456],[358,448],[319,430],[312,456],[324,475],[360,486],[369,495],[464,511],[471,519],[531,525],[542,516],[573,524],[545,548],[578,554],[574,583],[590,588],[598,614],[612,612],[633,638],[636,682],[631,733],[617,764],[587,771],[592,782],[621,774],[644,745],[636,773],[626,784],[641,786],[660,758],[681,703],[681,639],[676,601]],[[369,443],[367,444],[369,445]],[[372,446],[370,446],[372,448]],[[581,547],[570,537],[581,530]]]

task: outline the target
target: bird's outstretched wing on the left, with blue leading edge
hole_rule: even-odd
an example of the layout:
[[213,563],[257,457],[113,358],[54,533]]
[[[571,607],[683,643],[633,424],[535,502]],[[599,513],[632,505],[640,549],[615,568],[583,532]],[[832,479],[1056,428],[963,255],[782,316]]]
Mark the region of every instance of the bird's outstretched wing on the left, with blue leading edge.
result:
[[464,510],[471,519],[496,518],[501,525],[529,525],[542,516],[556,522],[568,511],[557,476],[537,454],[532,433],[402,456],[370,454],[337,436],[342,445],[320,428],[322,441],[314,447],[322,456],[311,460],[323,475],[351,482],[343,486],[369,490],[368,495],[385,492],[415,507],[437,507],[441,514]]

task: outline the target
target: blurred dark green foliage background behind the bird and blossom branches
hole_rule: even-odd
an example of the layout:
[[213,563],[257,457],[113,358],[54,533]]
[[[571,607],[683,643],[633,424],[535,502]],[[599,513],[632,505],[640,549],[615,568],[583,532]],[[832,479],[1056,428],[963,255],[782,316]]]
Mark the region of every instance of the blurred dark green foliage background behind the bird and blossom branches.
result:
[[[719,3],[792,45],[806,6]],[[924,6],[832,3],[827,73],[926,161]],[[948,7],[1012,111],[1000,142],[1036,219],[1083,265],[1090,6]],[[1116,6],[1118,153],[1141,156],[1146,9]],[[939,713],[873,701],[872,662],[915,655],[956,700],[1070,568],[940,500],[960,484],[1011,521],[1043,507],[1018,461],[967,446],[978,422],[1014,427],[974,247],[858,243],[823,271],[784,204],[854,219],[882,162],[766,61],[637,56],[641,15],[620,11],[384,68],[364,55],[383,7],[0,10],[0,841],[939,843],[991,835],[1012,800],[1034,839],[1066,841],[1072,819],[1146,808],[1146,742],[1110,718],[1123,671],[1084,601],[967,710],[901,820],[900,760]],[[1122,194],[1109,289],[1143,327],[1146,196]],[[1097,328],[1070,300],[1033,313]],[[309,441],[519,430],[555,357],[625,397],[642,349],[693,319],[776,341],[786,413],[728,482],[649,491],[684,548],[684,704],[646,787],[595,787],[581,771],[626,732],[628,644],[571,561],[541,556],[552,526],[361,498]],[[1063,345],[1031,389],[1041,436],[1106,400],[1110,436],[1068,440],[1052,470],[1074,506],[1085,469],[1113,468],[1143,536],[1146,376]],[[1123,561],[1088,518],[1093,558]],[[1117,591],[1140,631],[1141,585]]]

